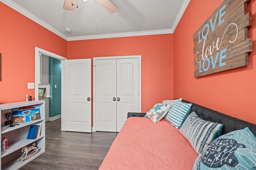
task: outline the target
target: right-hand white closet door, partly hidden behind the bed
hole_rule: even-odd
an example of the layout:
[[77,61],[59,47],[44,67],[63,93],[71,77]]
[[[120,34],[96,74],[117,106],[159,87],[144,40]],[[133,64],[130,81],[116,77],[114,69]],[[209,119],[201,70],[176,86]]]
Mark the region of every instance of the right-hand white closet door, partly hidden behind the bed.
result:
[[139,112],[139,63],[138,59],[117,59],[116,62],[117,112],[116,126],[119,132],[128,112]]

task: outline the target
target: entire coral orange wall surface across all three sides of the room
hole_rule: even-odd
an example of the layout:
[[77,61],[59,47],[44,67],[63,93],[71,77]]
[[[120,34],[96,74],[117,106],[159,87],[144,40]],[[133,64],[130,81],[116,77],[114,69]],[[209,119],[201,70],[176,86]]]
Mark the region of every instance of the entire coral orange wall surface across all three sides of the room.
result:
[[[66,41],[0,2],[2,81],[0,104],[33,96],[27,83],[35,78],[35,47],[68,59],[142,56],[142,111],[157,102],[185,100],[256,123],[256,0],[250,0],[253,39],[249,65],[194,78],[192,35],[223,0],[191,0],[174,34]],[[174,57],[175,56],[175,57]],[[254,62],[253,62],[254,61]]]

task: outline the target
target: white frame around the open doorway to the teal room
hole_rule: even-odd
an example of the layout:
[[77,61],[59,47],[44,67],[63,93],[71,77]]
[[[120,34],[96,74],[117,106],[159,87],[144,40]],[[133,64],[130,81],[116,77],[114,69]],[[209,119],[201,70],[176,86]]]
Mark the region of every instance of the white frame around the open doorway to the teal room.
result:
[[67,58],[54,54],[50,51],[35,47],[35,100],[38,100],[38,55],[43,54],[61,60],[61,130],[63,131],[63,111],[64,111],[64,60]]

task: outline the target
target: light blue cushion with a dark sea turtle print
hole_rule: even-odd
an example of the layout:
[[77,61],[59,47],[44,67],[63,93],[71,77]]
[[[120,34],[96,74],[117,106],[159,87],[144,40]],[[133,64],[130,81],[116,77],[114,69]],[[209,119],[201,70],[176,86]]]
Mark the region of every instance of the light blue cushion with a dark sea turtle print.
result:
[[256,168],[256,137],[248,127],[220,136],[196,158],[194,170],[210,168],[225,170]]

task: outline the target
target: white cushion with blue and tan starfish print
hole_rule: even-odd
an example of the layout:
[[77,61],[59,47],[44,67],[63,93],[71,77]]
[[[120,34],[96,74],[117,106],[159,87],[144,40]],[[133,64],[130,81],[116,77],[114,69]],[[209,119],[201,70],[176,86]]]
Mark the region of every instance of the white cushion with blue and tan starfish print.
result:
[[170,104],[156,104],[152,107],[144,117],[150,118],[154,123],[160,121],[166,113],[169,111],[171,105]]

